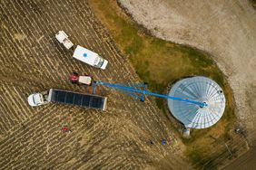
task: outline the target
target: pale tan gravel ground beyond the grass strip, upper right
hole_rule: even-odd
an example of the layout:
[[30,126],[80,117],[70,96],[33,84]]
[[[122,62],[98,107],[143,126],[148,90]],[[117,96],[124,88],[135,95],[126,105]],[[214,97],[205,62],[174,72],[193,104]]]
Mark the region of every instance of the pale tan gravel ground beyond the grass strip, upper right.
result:
[[256,14],[248,0],[118,0],[133,19],[164,40],[212,55],[233,90],[251,143],[256,136]]

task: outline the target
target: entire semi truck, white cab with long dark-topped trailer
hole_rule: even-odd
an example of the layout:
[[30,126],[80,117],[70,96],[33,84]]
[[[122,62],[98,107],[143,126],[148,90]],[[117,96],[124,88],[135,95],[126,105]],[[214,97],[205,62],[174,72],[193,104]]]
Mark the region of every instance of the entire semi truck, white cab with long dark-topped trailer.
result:
[[68,90],[50,89],[43,92],[31,94],[28,97],[28,104],[32,107],[56,102],[60,104],[79,106],[89,109],[106,109],[107,98]]

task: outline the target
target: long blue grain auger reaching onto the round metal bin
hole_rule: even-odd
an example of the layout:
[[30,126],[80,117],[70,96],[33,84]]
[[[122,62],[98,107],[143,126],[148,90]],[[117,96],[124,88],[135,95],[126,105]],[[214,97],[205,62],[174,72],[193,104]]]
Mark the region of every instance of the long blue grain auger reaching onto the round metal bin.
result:
[[155,97],[159,97],[159,98],[174,99],[174,100],[179,100],[179,101],[195,104],[195,105],[200,106],[201,108],[207,107],[207,104],[205,102],[199,102],[199,101],[194,101],[194,100],[190,100],[190,99],[175,98],[175,97],[147,91],[145,83],[133,83],[133,84],[129,84],[129,87],[127,87],[124,84],[120,84],[120,83],[113,84],[113,83],[107,83],[107,82],[103,82],[103,81],[94,81],[94,83],[93,83],[93,87],[94,87],[93,92],[94,93],[96,92],[97,85],[103,85],[103,86],[107,86],[110,88],[114,88],[115,90],[119,90],[119,91],[133,97],[134,99],[139,99],[140,101],[144,101],[145,95],[150,95],[150,96],[155,96]]

